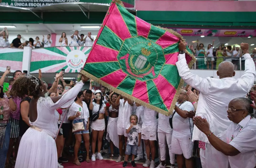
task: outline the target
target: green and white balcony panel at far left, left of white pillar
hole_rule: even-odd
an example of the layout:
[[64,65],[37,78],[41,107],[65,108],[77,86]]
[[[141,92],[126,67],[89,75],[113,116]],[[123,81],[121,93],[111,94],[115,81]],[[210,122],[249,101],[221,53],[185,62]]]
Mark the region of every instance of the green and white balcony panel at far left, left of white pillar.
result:
[[0,47],[0,71],[11,67],[11,72],[22,69],[23,49]]

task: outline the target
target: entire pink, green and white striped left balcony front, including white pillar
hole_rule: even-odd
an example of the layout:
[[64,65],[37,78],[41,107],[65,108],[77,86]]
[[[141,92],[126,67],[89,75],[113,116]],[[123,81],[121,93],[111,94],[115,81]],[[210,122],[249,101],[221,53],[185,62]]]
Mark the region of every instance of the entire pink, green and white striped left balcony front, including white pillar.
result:
[[65,69],[65,73],[78,73],[83,68],[91,51],[91,47],[59,46],[39,49],[24,49],[0,47],[0,71],[11,67],[11,72],[28,70],[30,73],[58,73]]

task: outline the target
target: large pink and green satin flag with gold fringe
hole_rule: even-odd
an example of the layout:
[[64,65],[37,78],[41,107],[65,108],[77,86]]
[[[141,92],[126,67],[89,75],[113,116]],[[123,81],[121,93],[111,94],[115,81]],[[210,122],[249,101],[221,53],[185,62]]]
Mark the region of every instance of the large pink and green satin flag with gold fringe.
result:
[[[183,86],[177,56],[180,34],[153,26],[111,3],[82,74],[116,93],[171,115]],[[187,64],[194,56],[187,48]]]

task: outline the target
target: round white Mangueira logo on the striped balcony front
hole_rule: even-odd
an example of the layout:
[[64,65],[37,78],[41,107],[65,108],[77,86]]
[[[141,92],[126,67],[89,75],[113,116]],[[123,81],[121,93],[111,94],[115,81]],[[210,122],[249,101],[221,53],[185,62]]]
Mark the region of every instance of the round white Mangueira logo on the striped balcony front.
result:
[[66,63],[68,67],[74,70],[83,68],[87,57],[81,50],[73,50],[67,55]]

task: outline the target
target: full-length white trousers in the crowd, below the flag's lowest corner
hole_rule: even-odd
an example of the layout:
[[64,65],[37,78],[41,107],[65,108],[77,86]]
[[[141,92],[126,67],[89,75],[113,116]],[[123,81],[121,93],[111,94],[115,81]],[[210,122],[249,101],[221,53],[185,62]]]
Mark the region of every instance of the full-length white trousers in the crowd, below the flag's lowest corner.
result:
[[169,149],[169,156],[171,164],[175,164],[175,154],[171,153],[171,136],[172,134],[167,134],[164,132],[157,132],[158,141],[159,141],[159,149],[160,149],[160,160],[165,161],[165,153],[166,153],[166,141]]

